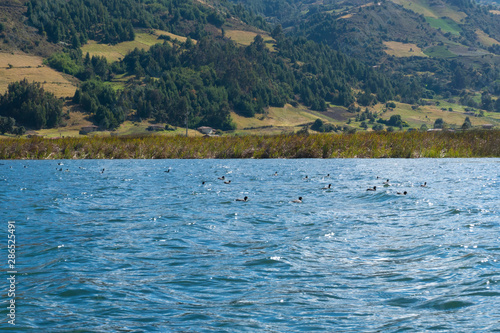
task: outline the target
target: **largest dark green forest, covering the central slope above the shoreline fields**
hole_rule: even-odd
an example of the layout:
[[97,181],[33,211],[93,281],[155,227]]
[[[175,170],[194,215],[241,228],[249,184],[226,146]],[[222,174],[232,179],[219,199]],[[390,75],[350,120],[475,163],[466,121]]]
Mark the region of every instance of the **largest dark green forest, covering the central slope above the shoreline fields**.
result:
[[[118,126],[126,110],[141,118],[182,126],[231,129],[229,111],[252,117],[268,106],[302,103],[325,111],[326,102],[368,106],[396,95],[417,101],[424,90],[407,77],[387,77],[328,46],[277,32],[271,52],[261,36],[241,47],[232,41],[203,38],[194,44],[165,42],[149,51],[134,50],[121,62],[78,55],[68,68],[89,78],[74,97],[105,128]],[[56,56],[55,58],[64,57]],[[66,56],[67,57],[67,56]],[[64,68],[62,68],[64,70]],[[104,82],[110,74],[134,75],[138,83],[114,93]],[[352,88],[363,90],[354,95]]]

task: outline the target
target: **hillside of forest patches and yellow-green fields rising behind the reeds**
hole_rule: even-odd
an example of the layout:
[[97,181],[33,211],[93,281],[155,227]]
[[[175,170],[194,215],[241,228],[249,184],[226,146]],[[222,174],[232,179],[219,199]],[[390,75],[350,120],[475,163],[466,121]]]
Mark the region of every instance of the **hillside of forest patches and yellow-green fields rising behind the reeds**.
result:
[[[318,118],[318,131],[499,123],[493,3],[8,0],[2,8],[0,121],[50,136],[89,123],[138,134],[186,119],[227,133],[296,131]],[[23,77],[42,82],[28,89],[66,97],[56,120],[34,128],[6,109],[17,98],[9,83]]]

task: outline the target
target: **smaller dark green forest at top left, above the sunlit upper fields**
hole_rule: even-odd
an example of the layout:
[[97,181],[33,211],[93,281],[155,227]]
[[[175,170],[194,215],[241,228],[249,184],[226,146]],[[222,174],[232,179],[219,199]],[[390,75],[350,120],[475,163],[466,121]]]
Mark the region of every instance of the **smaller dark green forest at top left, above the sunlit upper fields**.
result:
[[199,39],[205,27],[220,28],[234,15],[247,24],[266,28],[262,17],[228,4],[224,11],[196,1],[182,0],[29,0],[28,23],[54,43],[80,47],[92,39],[103,43],[133,40],[134,28],[155,28]]

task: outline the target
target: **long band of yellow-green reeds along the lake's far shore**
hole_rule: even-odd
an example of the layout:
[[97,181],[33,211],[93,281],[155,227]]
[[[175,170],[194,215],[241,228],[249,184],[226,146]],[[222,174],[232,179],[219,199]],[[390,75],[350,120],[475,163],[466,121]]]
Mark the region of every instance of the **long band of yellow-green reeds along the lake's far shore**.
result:
[[500,157],[500,131],[0,140],[0,159]]

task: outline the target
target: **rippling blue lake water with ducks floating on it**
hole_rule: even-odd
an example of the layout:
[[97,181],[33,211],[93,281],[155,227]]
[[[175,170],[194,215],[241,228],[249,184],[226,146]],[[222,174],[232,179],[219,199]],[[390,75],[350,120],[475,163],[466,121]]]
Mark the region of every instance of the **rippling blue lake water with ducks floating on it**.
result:
[[500,331],[500,159],[0,162],[0,329]]

